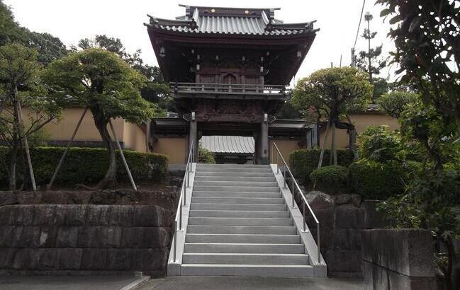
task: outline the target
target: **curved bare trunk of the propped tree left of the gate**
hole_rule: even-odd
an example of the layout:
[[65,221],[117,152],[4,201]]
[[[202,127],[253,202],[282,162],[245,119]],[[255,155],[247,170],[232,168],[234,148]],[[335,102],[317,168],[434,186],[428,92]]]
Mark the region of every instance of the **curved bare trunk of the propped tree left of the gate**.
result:
[[101,138],[103,141],[103,144],[106,146],[107,153],[108,153],[108,170],[104,178],[98,183],[96,187],[101,188],[101,189],[106,189],[106,188],[113,188],[116,187],[117,185],[117,180],[116,180],[116,156],[115,156],[115,148],[113,146],[113,142],[111,139],[110,134],[108,134],[107,130],[107,124],[103,112],[100,112],[99,110],[94,110],[91,109],[91,112],[93,113],[94,116],[94,124],[96,124],[96,128],[99,131],[99,134],[101,134]]

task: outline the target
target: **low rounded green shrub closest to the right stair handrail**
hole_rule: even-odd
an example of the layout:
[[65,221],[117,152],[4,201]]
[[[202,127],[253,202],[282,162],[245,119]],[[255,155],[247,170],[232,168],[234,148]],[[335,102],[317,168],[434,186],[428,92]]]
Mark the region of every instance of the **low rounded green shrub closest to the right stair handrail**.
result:
[[315,184],[315,190],[330,195],[348,192],[348,169],[344,166],[324,166],[315,169],[310,174],[310,180]]

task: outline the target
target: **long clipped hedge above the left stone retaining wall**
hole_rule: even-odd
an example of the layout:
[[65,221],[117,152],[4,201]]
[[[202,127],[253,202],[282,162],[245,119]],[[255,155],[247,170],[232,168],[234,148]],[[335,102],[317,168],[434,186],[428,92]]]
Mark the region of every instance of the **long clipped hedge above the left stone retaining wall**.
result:
[[[0,160],[4,164],[0,166],[0,185],[8,185],[8,156],[6,147],[0,148]],[[36,147],[31,149],[35,180],[38,184],[45,184],[50,181],[59,159],[64,152],[63,147]],[[157,153],[140,153],[136,151],[123,150],[126,161],[130,167],[135,180],[161,181],[167,171],[169,158]],[[125,167],[121,162],[120,154],[116,151],[118,178],[126,180]],[[18,162],[22,171],[23,162]],[[106,149],[102,148],[79,148],[71,147],[62,164],[60,172],[55,180],[56,184],[74,185],[77,183],[99,182],[106,174],[108,168],[108,156]],[[18,183],[21,178],[18,175]]]

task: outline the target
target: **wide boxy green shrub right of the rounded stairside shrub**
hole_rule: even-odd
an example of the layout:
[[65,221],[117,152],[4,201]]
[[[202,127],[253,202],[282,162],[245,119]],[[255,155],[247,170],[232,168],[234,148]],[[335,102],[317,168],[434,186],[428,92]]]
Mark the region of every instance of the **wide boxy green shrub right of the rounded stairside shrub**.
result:
[[404,192],[403,170],[396,162],[361,159],[348,170],[352,192],[365,199],[387,199]]

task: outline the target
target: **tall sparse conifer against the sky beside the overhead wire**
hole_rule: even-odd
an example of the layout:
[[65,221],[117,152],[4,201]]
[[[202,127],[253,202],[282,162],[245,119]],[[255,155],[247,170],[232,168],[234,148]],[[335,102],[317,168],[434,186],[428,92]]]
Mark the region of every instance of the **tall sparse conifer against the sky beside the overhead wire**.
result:
[[377,35],[376,32],[371,31],[370,23],[373,18],[374,16],[372,16],[371,13],[366,12],[364,19],[367,22],[367,28],[364,29],[364,33],[361,37],[367,40],[367,51],[362,50],[359,52],[359,55],[356,56],[357,66],[359,69],[369,74],[369,81],[371,81],[371,83],[374,82],[373,76],[380,74],[381,69],[386,66],[386,61],[380,57],[382,54],[382,45],[371,48],[371,40]]

